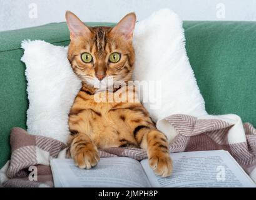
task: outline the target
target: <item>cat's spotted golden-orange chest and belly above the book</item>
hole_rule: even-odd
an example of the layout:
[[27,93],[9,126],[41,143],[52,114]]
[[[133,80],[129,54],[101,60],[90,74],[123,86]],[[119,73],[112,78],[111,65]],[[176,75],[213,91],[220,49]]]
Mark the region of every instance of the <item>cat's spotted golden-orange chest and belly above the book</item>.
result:
[[[78,94],[74,111],[83,111],[79,119],[86,134],[98,148],[137,146],[130,122],[143,117],[140,103],[98,101],[97,97]],[[104,99],[103,99],[104,100]]]

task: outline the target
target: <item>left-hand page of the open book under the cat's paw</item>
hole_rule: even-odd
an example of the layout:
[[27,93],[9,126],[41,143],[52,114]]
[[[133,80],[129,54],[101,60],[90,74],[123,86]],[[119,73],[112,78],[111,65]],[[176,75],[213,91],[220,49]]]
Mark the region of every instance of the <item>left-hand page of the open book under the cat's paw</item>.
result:
[[51,160],[55,187],[150,187],[139,161],[101,158],[95,168],[79,169],[73,159]]

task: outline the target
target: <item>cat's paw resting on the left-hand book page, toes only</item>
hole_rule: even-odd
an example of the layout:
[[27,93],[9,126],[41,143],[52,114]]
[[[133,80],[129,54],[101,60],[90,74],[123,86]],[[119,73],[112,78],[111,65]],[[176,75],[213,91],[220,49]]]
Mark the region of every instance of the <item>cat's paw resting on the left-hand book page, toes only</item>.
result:
[[91,169],[100,161],[98,150],[93,144],[86,144],[83,148],[77,148],[72,157],[80,169]]

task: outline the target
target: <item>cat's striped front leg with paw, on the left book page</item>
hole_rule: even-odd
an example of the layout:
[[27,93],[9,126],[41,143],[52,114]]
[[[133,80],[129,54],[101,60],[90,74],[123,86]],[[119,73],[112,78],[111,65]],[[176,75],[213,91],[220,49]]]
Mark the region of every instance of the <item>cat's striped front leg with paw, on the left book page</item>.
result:
[[100,161],[98,149],[86,134],[76,134],[70,144],[70,154],[80,169],[91,169]]

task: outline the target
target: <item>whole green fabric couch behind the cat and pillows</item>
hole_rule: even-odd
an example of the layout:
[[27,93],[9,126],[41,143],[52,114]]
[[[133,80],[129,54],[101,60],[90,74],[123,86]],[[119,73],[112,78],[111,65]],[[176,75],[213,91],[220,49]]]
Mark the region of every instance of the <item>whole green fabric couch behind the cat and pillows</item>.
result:
[[[88,23],[113,26],[113,23]],[[256,126],[256,22],[185,21],[186,48],[210,114],[234,113]],[[28,99],[23,39],[69,44],[66,23],[0,32],[0,168],[10,156],[9,133],[26,129]]]

